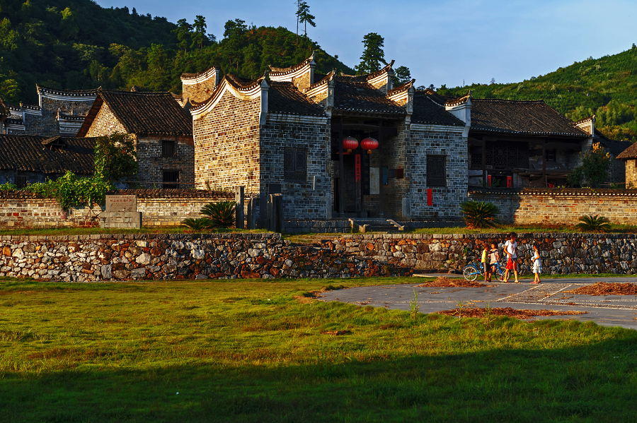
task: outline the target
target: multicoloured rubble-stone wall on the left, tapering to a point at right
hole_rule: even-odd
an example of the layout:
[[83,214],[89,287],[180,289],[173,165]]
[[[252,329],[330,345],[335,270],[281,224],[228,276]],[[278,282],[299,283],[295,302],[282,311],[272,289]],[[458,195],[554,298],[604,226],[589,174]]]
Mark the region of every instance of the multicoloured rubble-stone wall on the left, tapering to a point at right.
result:
[[4,235],[0,276],[64,282],[408,276],[413,270],[280,234]]

